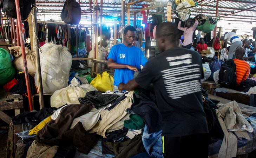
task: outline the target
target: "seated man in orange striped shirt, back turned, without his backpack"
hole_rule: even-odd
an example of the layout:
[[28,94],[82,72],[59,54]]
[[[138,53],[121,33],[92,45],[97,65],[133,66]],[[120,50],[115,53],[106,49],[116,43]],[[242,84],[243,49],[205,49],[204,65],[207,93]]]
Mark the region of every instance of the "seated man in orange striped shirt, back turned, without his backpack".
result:
[[250,65],[243,60],[244,54],[245,49],[243,47],[238,47],[235,51],[236,59],[233,59],[236,64],[236,83],[238,85],[248,78],[250,72]]

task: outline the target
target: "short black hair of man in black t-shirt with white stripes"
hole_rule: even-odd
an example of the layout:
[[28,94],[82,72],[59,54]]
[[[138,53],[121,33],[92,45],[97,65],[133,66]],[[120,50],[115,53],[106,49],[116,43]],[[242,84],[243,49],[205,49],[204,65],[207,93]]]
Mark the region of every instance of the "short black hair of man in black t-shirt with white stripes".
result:
[[178,41],[178,30],[177,26],[172,22],[163,22],[157,26],[156,35],[158,37],[164,36],[170,42]]

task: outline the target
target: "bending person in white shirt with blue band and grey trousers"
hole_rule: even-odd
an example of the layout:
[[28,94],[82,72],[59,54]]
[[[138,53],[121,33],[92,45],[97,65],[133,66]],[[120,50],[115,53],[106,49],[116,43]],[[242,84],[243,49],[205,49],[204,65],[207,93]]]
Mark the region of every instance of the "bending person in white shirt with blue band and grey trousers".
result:
[[[230,45],[228,60],[235,58],[235,51],[238,47],[242,47],[242,41],[236,35],[236,29],[233,29],[229,33],[225,33],[224,40],[227,44]],[[230,43],[228,42],[230,41]]]

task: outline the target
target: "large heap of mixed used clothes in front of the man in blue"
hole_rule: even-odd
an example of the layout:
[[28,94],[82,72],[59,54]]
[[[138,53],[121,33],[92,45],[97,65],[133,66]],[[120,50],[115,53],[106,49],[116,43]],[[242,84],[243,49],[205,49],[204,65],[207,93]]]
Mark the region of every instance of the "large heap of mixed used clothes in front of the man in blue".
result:
[[71,158],[98,147],[105,157],[163,157],[162,117],[151,92],[90,91],[78,101],[16,116],[23,132],[16,133],[22,140],[15,156]]

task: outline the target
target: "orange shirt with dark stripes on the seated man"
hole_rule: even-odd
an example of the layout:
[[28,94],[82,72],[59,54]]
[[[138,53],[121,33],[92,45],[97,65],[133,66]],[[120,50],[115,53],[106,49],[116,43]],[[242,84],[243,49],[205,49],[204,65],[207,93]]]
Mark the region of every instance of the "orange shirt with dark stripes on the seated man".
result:
[[233,60],[236,64],[236,83],[240,85],[242,81],[245,81],[248,78],[250,72],[250,65],[244,60]]

